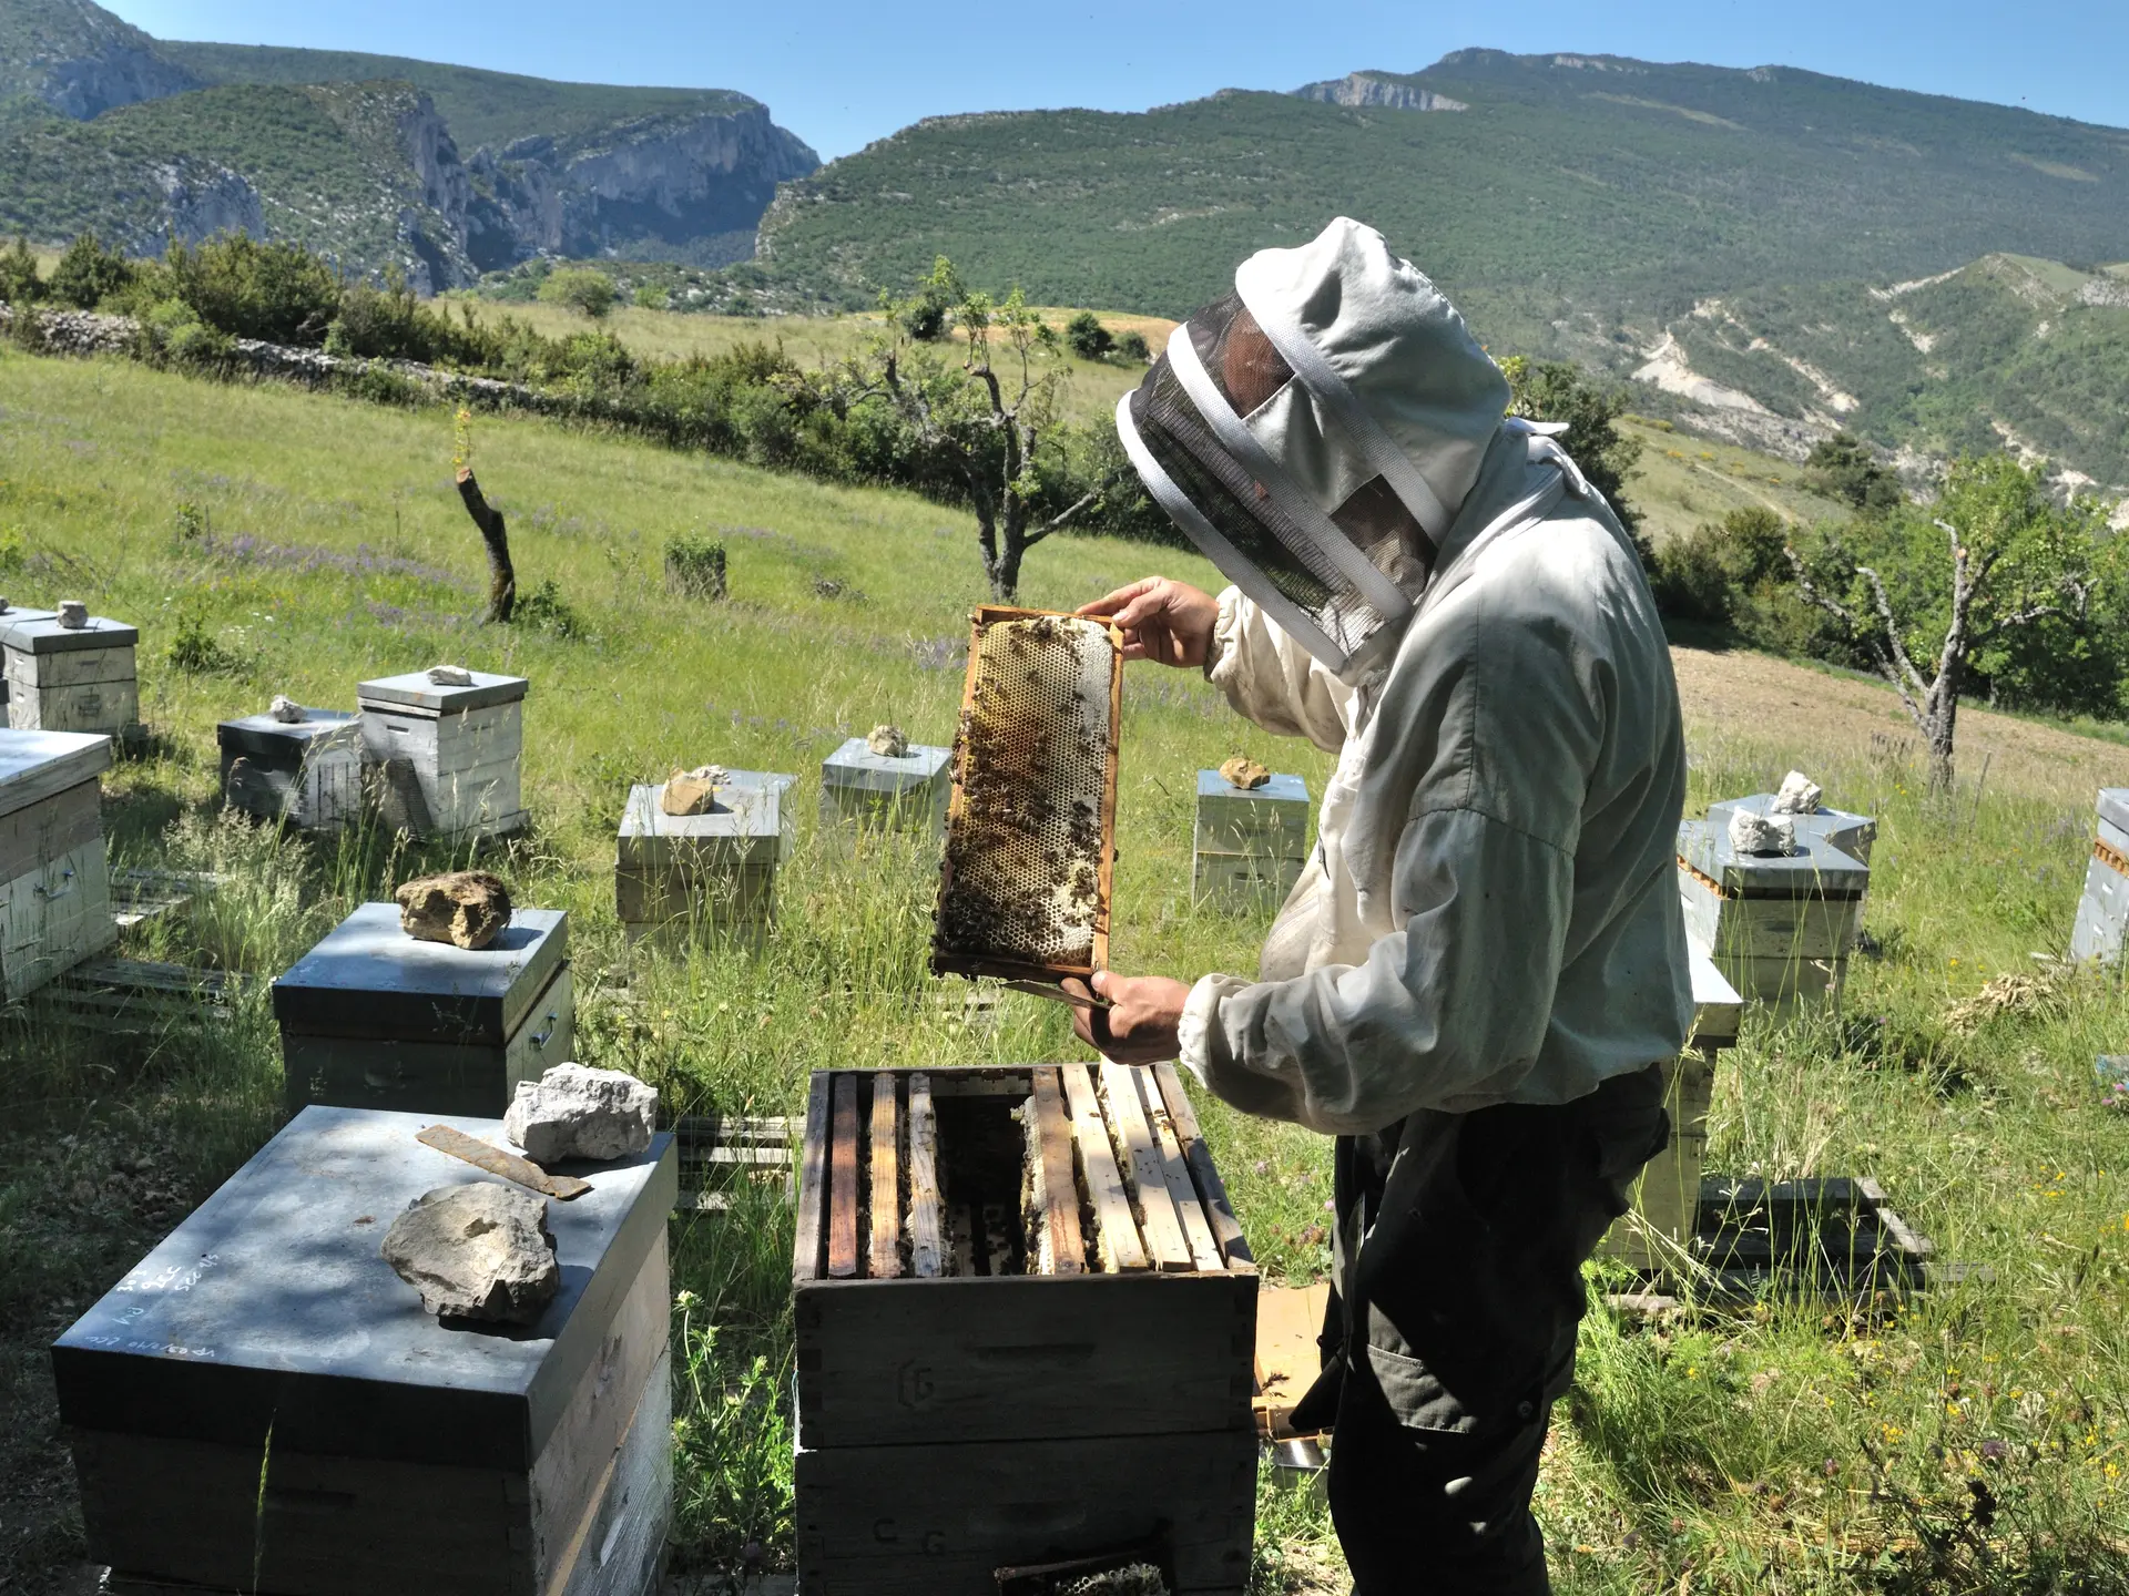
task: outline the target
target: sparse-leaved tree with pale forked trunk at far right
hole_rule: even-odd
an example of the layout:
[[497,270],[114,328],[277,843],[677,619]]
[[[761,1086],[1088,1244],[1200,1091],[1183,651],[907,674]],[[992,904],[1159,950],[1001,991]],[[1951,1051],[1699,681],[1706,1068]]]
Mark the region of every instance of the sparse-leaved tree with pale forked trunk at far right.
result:
[[[2097,511],[2057,504],[2044,468],[2010,455],[1961,460],[1927,513],[1833,528],[1810,562],[1795,545],[1784,553],[1803,600],[1893,683],[1929,743],[1935,792],[1952,785],[1974,660],[2044,621],[2082,626],[2114,560]],[[1925,675],[1916,658],[1931,655]]]

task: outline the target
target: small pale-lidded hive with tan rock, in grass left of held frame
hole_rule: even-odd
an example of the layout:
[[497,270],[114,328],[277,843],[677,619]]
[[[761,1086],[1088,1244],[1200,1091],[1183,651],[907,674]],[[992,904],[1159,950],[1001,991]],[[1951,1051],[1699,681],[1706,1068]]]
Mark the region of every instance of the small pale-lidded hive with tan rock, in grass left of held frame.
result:
[[613,898],[628,936],[766,936],[777,870],[792,851],[792,781],[728,770],[703,815],[664,813],[662,783],[630,787],[613,853]]

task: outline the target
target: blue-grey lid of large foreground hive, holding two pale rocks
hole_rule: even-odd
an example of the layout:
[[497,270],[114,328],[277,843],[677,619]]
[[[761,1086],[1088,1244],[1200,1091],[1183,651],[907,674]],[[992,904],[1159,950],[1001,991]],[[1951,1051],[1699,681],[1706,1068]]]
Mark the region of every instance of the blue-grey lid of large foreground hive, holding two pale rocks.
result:
[[[547,1202],[562,1290],[528,1330],[445,1328],[381,1247],[439,1185],[496,1177],[432,1115],[298,1113],[53,1343],[70,1426],[298,1453],[524,1470],[564,1413],[677,1194],[671,1136]],[[500,1119],[453,1119],[502,1141]]]

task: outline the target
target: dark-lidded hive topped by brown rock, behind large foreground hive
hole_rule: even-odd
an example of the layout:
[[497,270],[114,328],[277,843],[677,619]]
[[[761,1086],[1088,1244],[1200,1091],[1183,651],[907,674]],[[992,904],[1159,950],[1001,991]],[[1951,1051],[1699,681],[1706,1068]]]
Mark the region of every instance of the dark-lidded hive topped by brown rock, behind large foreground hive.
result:
[[568,915],[517,909],[483,949],[424,943],[366,902],[273,983],[287,1107],[496,1117],[575,1053]]

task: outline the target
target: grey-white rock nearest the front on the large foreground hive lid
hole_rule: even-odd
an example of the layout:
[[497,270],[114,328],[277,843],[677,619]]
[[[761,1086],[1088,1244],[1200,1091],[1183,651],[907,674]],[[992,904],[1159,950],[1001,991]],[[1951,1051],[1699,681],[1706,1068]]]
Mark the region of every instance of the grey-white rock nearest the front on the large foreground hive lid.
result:
[[532,1324],[562,1290],[547,1198],[500,1181],[424,1194],[392,1221],[383,1256],[439,1319]]

